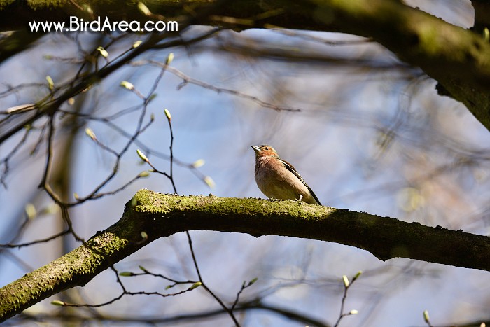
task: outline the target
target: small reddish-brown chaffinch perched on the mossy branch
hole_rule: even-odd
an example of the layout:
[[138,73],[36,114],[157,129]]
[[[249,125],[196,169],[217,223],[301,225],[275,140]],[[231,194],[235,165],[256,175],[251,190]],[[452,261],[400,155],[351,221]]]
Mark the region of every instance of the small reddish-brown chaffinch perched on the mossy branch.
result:
[[320,204],[318,197],[293,165],[280,159],[272,146],[252,148],[255,151],[255,181],[262,193],[270,199],[302,200],[310,204]]

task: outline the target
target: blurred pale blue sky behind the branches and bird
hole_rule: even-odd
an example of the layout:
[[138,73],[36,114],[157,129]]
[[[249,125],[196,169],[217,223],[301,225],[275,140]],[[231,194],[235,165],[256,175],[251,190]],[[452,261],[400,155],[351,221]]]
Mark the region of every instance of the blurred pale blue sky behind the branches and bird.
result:
[[[200,29],[196,27],[195,31]],[[358,40],[342,34],[309,35],[334,41]],[[190,83],[178,88],[182,79],[167,71],[155,91],[157,97],[148,106],[155,123],[139,141],[153,151],[168,153],[169,128],[163,110],[169,109],[175,137],[174,155],[189,163],[205,160],[199,172],[211,176],[216,183],[210,189],[190,169],[176,166],[179,194],[264,197],[253,179],[254,155],[250,146],[272,144],[281,158],[298,169],[324,205],[481,234],[487,232],[484,212],[490,195],[486,173],[488,131],[461,104],[439,97],[435,82],[407,67],[380,69],[398,62],[373,43],[325,46],[301,36],[255,30],[241,34],[223,32],[221,38],[221,44],[228,46],[239,43],[269,50],[283,49],[285,53],[316,53],[330,60],[349,57],[351,63],[339,66],[333,62],[292,63],[274,57],[253,57],[225,52],[217,46],[217,41],[190,50],[155,51],[138,58],[162,62],[172,51],[175,55],[172,67],[198,81],[253,95],[270,104],[301,109],[300,112],[274,111],[250,99]],[[89,43],[93,36],[82,39],[86,44],[93,44]],[[121,49],[136,39],[134,36],[134,40],[121,43]],[[49,74],[55,83],[60,83],[76,69],[70,64],[45,60],[44,55],[76,57],[79,53],[64,36],[45,36],[42,44],[0,67],[1,82],[45,83]],[[376,64],[377,68],[364,67],[363,62]],[[94,85],[87,92],[83,108],[94,108],[94,114],[101,117],[138,106],[141,100],[121,88],[120,81],[130,81],[146,94],[157,75],[158,69],[149,65],[127,66]],[[33,102],[39,96],[39,91],[22,90],[16,96],[0,99],[0,104],[8,108]],[[138,114],[136,111],[113,122],[131,133]],[[125,144],[124,137],[102,123],[89,120],[86,126],[106,146],[118,149]],[[57,140],[61,144],[62,136]],[[14,144],[14,140],[2,144],[2,155]],[[118,176],[104,190],[116,189],[149,168],[141,165],[137,148],[131,146],[123,157]],[[27,203],[34,203],[38,211],[50,206],[50,200],[36,188],[41,179],[43,153],[29,157],[25,154],[28,150],[29,146],[15,157],[7,178],[8,189],[0,189],[0,213],[4,221],[0,243],[9,241],[12,227],[22,220]],[[169,171],[167,160],[150,158],[159,169]],[[458,163],[461,158],[472,158],[476,164],[461,165]],[[445,166],[448,168],[436,174]],[[73,193],[86,195],[112,167],[111,155],[95,146],[84,128],[80,129],[73,162]],[[74,208],[71,218],[76,230],[89,238],[97,230],[107,228],[120,218],[124,204],[140,188],[172,193],[165,177],[152,174],[116,195]],[[22,241],[51,235],[57,231],[58,224],[55,214],[40,216]],[[204,279],[225,300],[234,299],[242,281],[258,277],[258,282],[244,292],[244,298],[270,292],[265,299],[268,303],[334,323],[342,298],[342,275],[351,277],[363,270],[367,273],[351,288],[346,304],[346,309],[358,309],[360,313],[346,317],[344,326],[423,326],[424,309],[429,310],[435,324],[476,319],[486,314],[482,303],[488,300],[488,290],[482,285],[488,284],[485,280],[489,277],[485,272],[407,259],[383,263],[360,249],[308,239],[274,236],[256,239],[218,232],[192,232],[192,235]],[[71,242],[71,246],[78,244]],[[41,267],[62,254],[59,242],[7,252],[0,254],[0,285],[18,279],[29,267]],[[22,265],[21,260],[29,266]],[[196,278],[184,235],[159,239],[116,267],[136,272],[138,265],[176,278]],[[91,303],[110,300],[119,291],[114,279],[112,272],[104,272],[80,289],[81,298]],[[155,279],[124,281],[134,290],[165,288],[165,283]],[[55,295],[50,300],[57,298]],[[29,311],[50,309],[48,303],[49,300],[43,301]],[[216,302],[204,291],[195,290],[165,299],[127,297],[102,310],[111,314],[131,310],[155,316],[215,307]],[[226,316],[218,320],[220,326],[230,323]],[[263,312],[247,316],[245,323],[246,326],[297,326]],[[202,326],[208,324],[211,326],[212,322]]]

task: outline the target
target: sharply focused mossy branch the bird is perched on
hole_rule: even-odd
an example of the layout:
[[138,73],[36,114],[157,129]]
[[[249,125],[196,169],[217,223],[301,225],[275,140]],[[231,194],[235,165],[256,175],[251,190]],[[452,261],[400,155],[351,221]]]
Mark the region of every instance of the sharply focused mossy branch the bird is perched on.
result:
[[[123,217],[83,246],[0,289],[0,321],[50,295],[84,286],[160,237],[184,230],[282,235],[351,245],[381,260],[412,258],[490,270],[490,239],[303,202],[181,197],[140,190]],[[141,232],[148,238],[142,239]]]

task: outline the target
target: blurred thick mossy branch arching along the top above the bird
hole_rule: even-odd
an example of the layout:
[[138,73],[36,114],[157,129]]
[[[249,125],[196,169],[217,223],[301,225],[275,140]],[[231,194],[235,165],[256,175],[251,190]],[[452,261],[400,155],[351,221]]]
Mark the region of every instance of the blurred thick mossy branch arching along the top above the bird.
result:
[[[279,26],[344,32],[372,38],[393,51],[400,60],[420,67],[437,80],[442,95],[463,102],[490,130],[490,43],[468,29],[456,27],[397,0],[270,0],[270,1],[145,1],[155,15],[148,18],[125,1],[88,1],[90,11],[75,1],[1,1],[0,29],[27,28],[28,21],[65,21],[77,15],[85,21],[106,17],[113,21],[155,17],[179,21],[195,16],[193,24],[221,25],[242,30]],[[484,11],[474,1],[479,16]],[[5,3],[5,4],[3,4]],[[216,4],[220,6],[216,6]],[[31,6],[36,6],[33,8]],[[486,7],[485,7],[486,8]],[[90,14],[89,14],[90,13]],[[160,16],[158,16],[160,15]],[[478,23],[477,22],[477,23]],[[478,29],[477,29],[478,30]]]

